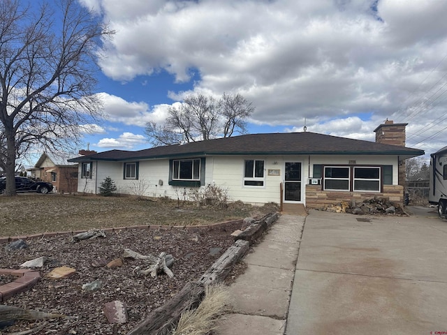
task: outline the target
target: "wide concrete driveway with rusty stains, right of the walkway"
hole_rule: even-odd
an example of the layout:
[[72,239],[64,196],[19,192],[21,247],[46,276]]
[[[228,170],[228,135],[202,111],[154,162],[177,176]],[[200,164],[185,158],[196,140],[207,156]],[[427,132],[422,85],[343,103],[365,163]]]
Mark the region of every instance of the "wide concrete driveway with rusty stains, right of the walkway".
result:
[[437,209],[305,221],[286,334],[447,334],[447,220]]

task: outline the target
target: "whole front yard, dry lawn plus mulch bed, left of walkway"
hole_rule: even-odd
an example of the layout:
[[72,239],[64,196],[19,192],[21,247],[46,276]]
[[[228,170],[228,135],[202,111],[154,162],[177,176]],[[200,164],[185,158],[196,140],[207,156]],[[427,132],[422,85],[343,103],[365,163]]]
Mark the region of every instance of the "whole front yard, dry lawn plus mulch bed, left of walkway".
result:
[[[20,195],[0,197],[0,235],[21,235],[53,231],[88,230],[132,225],[207,225],[247,216],[263,216],[277,210],[273,205],[253,207],[237,203],[227,209],[198,208],[177,202],[59,195]],[[6,251],[1,244],[0,267],[18,269],[27,260],[47,258],[39,269],[42,279],[34,287],[6,301],[10,306],[68,318],[17,321],[1,329],[3,334],[39,330],[29,334],[126,334],[155,308],[173,297],[188,281],[195,281],[233,244],[230,233],[241,224],[210,229],[116,230],[105,238],[78,241],[71,237],[43,237],[27,240],[28,248]],[[166,252],[175,258],[173,278],[133,274],[135,267],[145,269],[140,260],[124,259],[122,267],[109,269],[106,262],[121,258],[124,248],[143,255]],[[55,267],[72,267],[76,273],[66,279],[45,276]],[[0,284],[11,278],[1,278]],[[85,292],[82,285],[99,279],[101,290]],[[109,324],[103,306],[122,301],[129,321]]]

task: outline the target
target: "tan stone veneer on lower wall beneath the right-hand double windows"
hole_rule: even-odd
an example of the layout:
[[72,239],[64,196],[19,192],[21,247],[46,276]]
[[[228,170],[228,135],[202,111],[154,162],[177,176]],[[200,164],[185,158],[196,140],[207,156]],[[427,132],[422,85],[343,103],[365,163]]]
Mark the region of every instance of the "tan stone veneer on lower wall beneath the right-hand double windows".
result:
[[372,198],[386,198],[390,202],[404,205],[404,187],[401,185],[383,185],[383,193],[371,192],[337,192],[322,191],[321,185],[306,185],[306,207],[309,209],[323,209],[328,204],[339,204],[342,200],[356,203]]

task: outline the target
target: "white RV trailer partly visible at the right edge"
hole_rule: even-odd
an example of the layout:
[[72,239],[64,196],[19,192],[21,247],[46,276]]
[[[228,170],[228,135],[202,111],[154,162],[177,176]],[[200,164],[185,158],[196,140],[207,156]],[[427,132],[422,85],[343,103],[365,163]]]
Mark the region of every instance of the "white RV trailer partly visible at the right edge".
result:
[[428,201],[438,205],[441,218],[447,216],[447,147],[430,155]]

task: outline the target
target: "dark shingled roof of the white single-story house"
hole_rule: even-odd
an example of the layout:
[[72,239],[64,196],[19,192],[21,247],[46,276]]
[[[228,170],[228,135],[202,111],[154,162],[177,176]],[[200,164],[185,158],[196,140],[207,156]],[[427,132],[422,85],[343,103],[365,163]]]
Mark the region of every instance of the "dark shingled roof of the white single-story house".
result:
[[240,135],[139,151],[111,150],[69,161],[135,161],[216,155],[399,155],[410,158],[423,154],[420,149],[304,132]]

